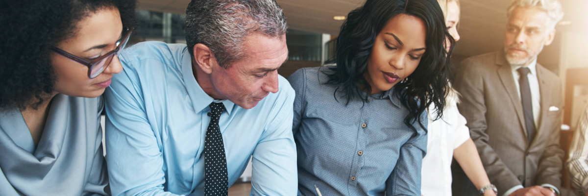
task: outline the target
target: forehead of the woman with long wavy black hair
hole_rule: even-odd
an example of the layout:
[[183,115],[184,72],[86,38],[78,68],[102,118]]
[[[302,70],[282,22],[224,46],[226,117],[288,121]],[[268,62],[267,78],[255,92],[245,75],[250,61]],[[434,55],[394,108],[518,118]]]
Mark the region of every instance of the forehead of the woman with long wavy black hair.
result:
[[[426,27],[422,19],[412,15],[399,14],[391,18],[380,33],[394,34],[410,48],[425,48]],[[390,36],[394,39],[392,36]]]

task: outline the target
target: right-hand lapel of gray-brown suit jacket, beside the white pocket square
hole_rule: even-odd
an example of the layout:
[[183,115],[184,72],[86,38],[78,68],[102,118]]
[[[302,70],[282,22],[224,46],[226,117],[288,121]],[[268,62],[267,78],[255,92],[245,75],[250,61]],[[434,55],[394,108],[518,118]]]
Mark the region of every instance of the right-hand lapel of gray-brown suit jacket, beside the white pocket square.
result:
[[[547,112],[549,109],[549,103],[551,102],[550,99],[550,89],[553,89],[551,87],[551,83],[549,82],[545,82],[547,74],[546,74],[546,69],[543,68],[541,65],[537,64],[537,82],[539,82],[539,94],[541,96],[540,98],[540,105],[541,105],[541,109],[540,109],[540,114],[539,114],[539,122],[537,122],[537,133],[535,134],[535,137],[538,137],[539,134],[541,134],[544,130],[543,128],[545,127],[546,123],[547,123]],[[533,141],[535,141],[535,139],[533,139]],[[532,143],[533,144],[533,143]]]

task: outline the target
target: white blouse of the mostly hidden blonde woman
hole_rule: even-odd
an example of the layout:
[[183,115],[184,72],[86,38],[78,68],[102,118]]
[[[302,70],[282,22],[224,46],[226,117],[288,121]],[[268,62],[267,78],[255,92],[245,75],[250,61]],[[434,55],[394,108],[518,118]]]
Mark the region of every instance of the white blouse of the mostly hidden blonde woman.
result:
[[470,138],[466,118],[457,110],[457,95],[447,98],[443,118],[432,121],[433,104],[429,107],[427,155],[423,158],[421,194],[424,196],[450,196],[451,162],[453,150]]

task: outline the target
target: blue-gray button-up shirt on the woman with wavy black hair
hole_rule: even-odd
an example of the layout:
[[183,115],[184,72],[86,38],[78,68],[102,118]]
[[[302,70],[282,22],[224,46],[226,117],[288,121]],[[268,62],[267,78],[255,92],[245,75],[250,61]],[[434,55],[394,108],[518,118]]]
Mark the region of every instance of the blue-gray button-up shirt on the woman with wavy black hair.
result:
[[[293,134],[298,151],[299,192],[303,195],[420,196],[425,129],[404,124],[409,113],[392,92],[367,102],[333,97],[324,84],[328,67],[303,68],[288,81],[296,91]],[[339,95],[339,94],[338,94]],[[427,125],[427,115],[421,115]]]

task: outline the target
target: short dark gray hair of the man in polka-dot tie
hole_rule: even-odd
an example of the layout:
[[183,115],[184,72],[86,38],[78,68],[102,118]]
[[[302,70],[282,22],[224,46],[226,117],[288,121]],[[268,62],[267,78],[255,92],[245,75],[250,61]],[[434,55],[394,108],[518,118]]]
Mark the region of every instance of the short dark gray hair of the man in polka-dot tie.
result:
[[192,0],[186,9],[186,43],[193,55],[204,44],[223,68],[245,57],[243,41],[252,34],[282,38],[286,18],[275,0]]

